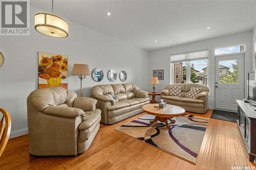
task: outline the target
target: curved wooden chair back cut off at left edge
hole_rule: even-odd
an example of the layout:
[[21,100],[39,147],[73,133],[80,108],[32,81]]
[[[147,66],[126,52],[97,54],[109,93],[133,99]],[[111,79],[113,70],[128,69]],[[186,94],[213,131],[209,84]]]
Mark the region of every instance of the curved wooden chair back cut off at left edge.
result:
[[7,110],[0,108],[3,117],[0,121],[0,156],[5,150],[11,132],[11,116]]

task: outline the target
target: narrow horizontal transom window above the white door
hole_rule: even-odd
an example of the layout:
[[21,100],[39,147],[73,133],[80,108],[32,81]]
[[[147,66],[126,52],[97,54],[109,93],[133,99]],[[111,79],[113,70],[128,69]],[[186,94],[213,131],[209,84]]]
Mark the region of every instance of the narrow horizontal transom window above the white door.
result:
[[245,44],[215,48],[215,55],[245,52]]

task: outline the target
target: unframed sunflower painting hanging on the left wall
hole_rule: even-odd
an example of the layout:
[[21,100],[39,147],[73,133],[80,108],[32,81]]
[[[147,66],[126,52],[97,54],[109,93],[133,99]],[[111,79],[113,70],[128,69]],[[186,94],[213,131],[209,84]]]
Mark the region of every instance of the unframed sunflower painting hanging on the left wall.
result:
[[38,89],[61,86],[68,88],[68,57],[38,52]]

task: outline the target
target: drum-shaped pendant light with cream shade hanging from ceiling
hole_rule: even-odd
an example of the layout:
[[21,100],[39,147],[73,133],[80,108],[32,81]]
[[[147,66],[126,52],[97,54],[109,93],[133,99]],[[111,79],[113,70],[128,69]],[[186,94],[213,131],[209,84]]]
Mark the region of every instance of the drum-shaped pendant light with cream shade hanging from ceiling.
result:
[[57,15],[49,13],[37,13],[35,14],[35,30],[41,34],[51,37],[65,38],[69,35],[69,24],[66,20]]

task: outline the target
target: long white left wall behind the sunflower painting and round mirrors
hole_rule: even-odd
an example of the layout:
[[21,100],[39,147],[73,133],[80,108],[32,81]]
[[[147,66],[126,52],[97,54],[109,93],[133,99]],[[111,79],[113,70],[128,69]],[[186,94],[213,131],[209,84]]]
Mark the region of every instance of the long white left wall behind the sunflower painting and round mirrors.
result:
[[[79,94],[80,83],[72,76],[74,63],[89,64],[90,70],[100,67],[104,71],[101,82],[90,76],[82,82],[84,96],[90,96],[91,87],[111,84],[106,74],[109,69],[127,72],[125,83],[135,83],[140,89],[148,88],[148,52],[126,42],[69,22],[69,36],[64,39],[44,36],[34,30],[34,14],[42,12],[31,7],[30,36],[2,36],[1,48],[7,58],[1,71],[1,107],[12,118],[11,137],[27,133],[26,99],[37,85],[37,52],[67,55],[69,58],[68,86]],[[146,83],[145,83],[146,82]],[[119,78],[114,83],[121,83]]]

